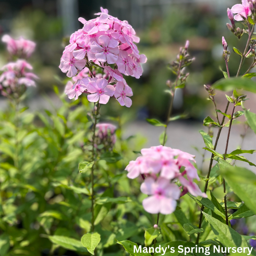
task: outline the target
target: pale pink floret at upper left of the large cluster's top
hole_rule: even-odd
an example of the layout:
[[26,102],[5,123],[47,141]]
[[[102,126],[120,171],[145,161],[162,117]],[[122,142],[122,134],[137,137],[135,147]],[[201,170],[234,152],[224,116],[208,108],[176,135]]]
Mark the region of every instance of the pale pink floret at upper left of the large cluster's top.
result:
[[98,33],[98,31],[107,31],[110,27],[107,23],[109,15],[102,13],[94,21],[88,21],[85,23],[83,30],[88,34],[92,35]]

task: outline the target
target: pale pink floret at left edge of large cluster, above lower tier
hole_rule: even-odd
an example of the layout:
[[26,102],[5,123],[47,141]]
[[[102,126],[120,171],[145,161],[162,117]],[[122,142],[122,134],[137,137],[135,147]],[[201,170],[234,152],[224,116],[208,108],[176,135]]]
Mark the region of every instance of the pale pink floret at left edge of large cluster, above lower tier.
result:
[[63,73],[67,73],[68,77],[73,77],[76,75],[77,69],[82,70],[85,64],[85,60],[76,60],[72,52],[66,51],[61,60],[60,68]]

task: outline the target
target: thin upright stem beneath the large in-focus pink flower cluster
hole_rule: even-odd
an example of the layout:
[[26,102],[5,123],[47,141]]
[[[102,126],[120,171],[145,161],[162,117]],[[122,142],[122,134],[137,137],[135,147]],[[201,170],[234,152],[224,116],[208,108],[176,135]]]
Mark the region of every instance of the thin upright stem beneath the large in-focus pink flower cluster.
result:
[[[96,110],[96,115],[94,115],[94,124],[93,124],[93,138],[92,138],[92,161],[94,161],[94,159],[97,157],[97,153],[95,154],[95,133],[96,133],[96,124],[97,124],[97,119],[98,119],[98,113],[99,113],[99,108],[100,108],[100,104],[98,102],[97,105],[97,110]],[[92,183],[92,206],[91,206],[91,212],[92,212],[92,232],[94,232],[94,165],[92,166],[92,170],[91,170],[91,183]]]

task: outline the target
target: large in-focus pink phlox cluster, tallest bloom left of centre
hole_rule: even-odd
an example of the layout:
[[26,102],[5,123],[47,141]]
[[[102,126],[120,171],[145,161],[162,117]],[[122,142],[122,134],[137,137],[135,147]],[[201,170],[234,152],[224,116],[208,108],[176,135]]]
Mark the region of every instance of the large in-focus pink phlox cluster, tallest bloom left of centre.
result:
[[[87,76],[94,77],[84,90],[92,94],[87,96],[89,101],[100,100],[102,104],[106,104],[109,97],[114,96],[122,106],[131,107],[132,100],[128,97],[133,92],[123,74],[135,78],[142,75],[142,64],[147,59],[144,54],[139,54],[134,44],[139,42],[139,37],[135,36],[134,29],[127,21],[109,15],[107,9],[101,8],[97,15],[97,18],[89,21],[79,18],[84,26],[71,35],[70,44],[65,47],[61,57],[60,69],[68,77],[73,77],[75,82]],[[96,67],[101,67],[103,74],[98,76]],[[104,85],[99,85],[102,80],[97,83],[95,77],[106,79],[108,85],[105,82]],[[67,84],[65,92],[72,98],[77,98],[73,97],[73,91],[68,93],[68,88],[74,89],[70,83]],[[98,93],[100,89],[104,89],[106,93]]]

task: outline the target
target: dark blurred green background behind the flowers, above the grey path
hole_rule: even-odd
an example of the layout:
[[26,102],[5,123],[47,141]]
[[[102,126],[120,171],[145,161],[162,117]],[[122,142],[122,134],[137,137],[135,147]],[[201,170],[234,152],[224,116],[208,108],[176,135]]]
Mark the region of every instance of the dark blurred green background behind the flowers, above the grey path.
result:
[[[207,94],[203,85],[211,84],[222,77],[224,69],[221,37],[225,36],[230,46],[243,47],[246,36],[240,41],[227,29],[229,22],[226,9],[239,1],[234,0],[1,0],[0,34],[13,37],[24,36],[37,42],[36,53],[30,62],[40,77],[36,89],[30,91],[30,105],[47,107],[41,96],[52,95],[52,85],[64,88],[56,75],[65,79],[58,68],[64,48],[63,37],[70,36],[82,27],[77,20],[95,17],[99,7],[121,20],[128,20],[141,38],[138,48],[146,54],[144,74],[137,80],[127,78],[133,88],[134,118],[142,120],[154,117],[163,120],[166,116],[169,96],[164,93],[166,80],[171,79],[167,64],[172,61],[190,40],[190,53],[196,61],[189,68],[191,73],[184,90],[178,90],[174,112],[188,113],[190,119],[201,121],[206,113]],[[230,47],[230,49],[232,49]],[[6,62],[5,46],[0,45],[0,65]],[[239,56],[233,54],[230,61],[231,74],[236,73]],[[248,63],[249,64],[249,63]],[[246,69],[246,65],[244,66]],[[52,96],[53,97],[53,96]],[[35,100],[36,99],[36,100]],[[58,102],[56,101],[56,104]],[[111,105],[112,104],[112,105]],[[1,106],[3,101],[1,100]],[[122,110],[121,110],[122,109]],[[123,108],[110,103],[106,111],[118,115]],[[127,110],[126,110],[127,111]]]

